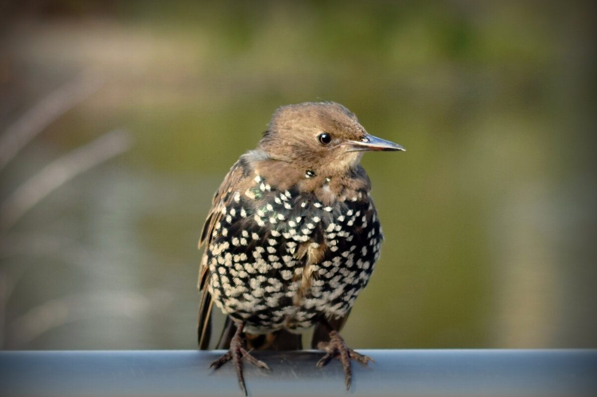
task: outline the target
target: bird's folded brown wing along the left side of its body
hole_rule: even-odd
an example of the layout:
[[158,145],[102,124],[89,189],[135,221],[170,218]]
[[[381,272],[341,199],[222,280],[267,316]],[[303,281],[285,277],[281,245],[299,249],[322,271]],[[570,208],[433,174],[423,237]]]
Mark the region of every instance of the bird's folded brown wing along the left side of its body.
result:
[[199,268],[199,282],[198,287],[201,290],[201,302],[199,303],[199,318],[197,327],[197,337],[199,342],[199,349],[205,350],[208,348],[211,337],[211,309],[213,308],[213,300],[207,288],[207,281],[210,278],[210,269],[207,265],[206,250],[210,246],[212,232],[214,225],[220,220],[222,216],[221,209],[227,205],[232,199],[232,193],[235,191],[236,185],[244,175],[244,168],[240,162],[236,162],[232,166],[226,178],[220,185],[220,188],[214,195],[211,210],[203,229],[201,231],[201,238],[199,238],[199,247],[205,246],[203,256],[201,258],[201,267]]

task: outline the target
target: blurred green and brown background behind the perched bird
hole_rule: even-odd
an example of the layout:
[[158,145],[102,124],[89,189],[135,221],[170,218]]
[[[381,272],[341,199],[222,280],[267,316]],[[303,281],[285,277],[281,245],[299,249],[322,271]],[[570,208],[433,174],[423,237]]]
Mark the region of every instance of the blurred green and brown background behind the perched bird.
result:
[[195,348],[211,196],[318,98],[407,148],[350,346],[597,347],[593,2],[0,4],[2,348]]

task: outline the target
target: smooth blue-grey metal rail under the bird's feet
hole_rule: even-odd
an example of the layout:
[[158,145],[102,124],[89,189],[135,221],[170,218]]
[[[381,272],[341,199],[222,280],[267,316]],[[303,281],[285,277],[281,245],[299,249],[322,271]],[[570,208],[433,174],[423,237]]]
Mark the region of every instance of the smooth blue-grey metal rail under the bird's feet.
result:
[[[362,350],[344,389],[340,362],[321,352],[255,352],[271,370],[245,364],[249,395],[597,396],[597,350]],[[221,351],[0,352],[1,396],[236,396]]]

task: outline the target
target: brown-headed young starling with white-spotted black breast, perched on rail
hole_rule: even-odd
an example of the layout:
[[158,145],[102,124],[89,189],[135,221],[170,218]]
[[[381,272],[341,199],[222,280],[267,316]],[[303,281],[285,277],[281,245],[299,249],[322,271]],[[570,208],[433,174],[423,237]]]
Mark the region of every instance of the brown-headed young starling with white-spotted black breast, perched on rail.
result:
[[340,358],[346,388],[350,359],[338,333],[367,285],[383,236],[371,184],[359,165],[365,151],[404,150],[373,137],[355,114],[333,102],[282,106],[255,150],[232,166],[213,199],[199,246],[199,348],[211,336],[213,302],[227,315],[213,362],[232,360],[247,394],[242,358],[269,368],[251,349],[301,349],[315,325],[317,363]]

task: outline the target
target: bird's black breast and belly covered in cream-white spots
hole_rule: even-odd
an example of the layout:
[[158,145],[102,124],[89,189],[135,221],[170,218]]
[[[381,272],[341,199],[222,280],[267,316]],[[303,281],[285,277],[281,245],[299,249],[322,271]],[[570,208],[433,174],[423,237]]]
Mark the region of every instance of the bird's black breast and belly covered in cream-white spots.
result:
[[368,192],[330,205],[257,176],[231,191],[207,249],[209,291],[250,333],[341,317],[367,285],[382,240]]

